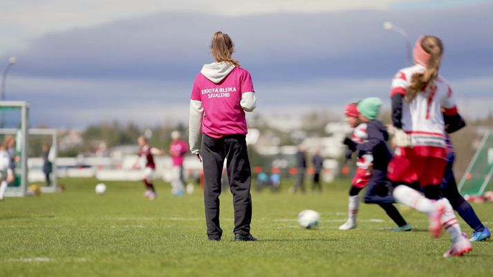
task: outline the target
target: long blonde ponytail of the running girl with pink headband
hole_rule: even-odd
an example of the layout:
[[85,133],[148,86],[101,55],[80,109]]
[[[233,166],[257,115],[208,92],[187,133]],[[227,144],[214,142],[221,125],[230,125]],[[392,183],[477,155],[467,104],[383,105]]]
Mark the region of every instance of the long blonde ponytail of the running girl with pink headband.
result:
[[421,41],[421,47],[429,54],[429,59],[425,72],[416,73],[411,77],[411,84],[407,88],[406,95],[404,95],[407,102],[413,101],[418,93],[425,90],[426,86],[436,79],[438,70],[440,70],[443,55],[442,41],[438,37],[425,36]]

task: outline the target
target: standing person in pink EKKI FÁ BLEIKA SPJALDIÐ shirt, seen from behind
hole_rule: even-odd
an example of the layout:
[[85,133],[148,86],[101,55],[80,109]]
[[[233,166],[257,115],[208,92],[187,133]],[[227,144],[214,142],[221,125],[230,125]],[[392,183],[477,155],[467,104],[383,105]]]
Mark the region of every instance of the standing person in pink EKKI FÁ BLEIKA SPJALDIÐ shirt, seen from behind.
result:
[[250,234],[252,173],[245,142],[245,112],[256,107],[252,77],[231,58],[233,41],[223,32],[212,37],[212,56],[194,81],[190,97],[190,151],[203,162],[205,176],[204,202],[207,236],[221,240],[219,195],[221,173],[226,160],[227,178],[233,194],[234,240],[257,240]]

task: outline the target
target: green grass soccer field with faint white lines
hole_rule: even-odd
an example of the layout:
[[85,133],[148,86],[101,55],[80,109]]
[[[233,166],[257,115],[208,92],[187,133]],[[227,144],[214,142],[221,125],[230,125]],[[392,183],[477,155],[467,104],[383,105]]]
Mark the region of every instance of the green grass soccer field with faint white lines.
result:
[[[158,198],[149,201],[140,182],[106,182],[105,195],[94,193],[93,179],[60,182],[64,193],[0,202],[0,276],[493,276],[492,240],[442,258],[449,239],[432,239],[421,213],[402,211],[413,231],[392,233],[380,208],[362,204],[358,228],[337,230],[346,182],[322,194],[252,191],[258,242],[233,242],[229,191],[221,195],[223,240],[210,242],[198,190],[178,198],[156,182]],[[321,213],[319,229],[297,225],[303,209]],[[493,226],[493,204],[474,209]]]

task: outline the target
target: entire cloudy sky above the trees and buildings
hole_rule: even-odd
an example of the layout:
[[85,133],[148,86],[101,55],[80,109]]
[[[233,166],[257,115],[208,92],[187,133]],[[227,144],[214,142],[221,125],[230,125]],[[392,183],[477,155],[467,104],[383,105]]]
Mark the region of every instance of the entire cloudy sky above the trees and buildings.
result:
[[443,39],[441,71],[463,113],[493,111],[493,1],[264,2],[12,1],[0,20],[0,61],[18,58],[7,99],[30,102],[34,125],[186,122],[194,76],[223,30],[252,73],[258,113],[339,113],[362,97],[388,102],[390,79],[406,65],[404,39],[382,28],[393,21],[412,42]]

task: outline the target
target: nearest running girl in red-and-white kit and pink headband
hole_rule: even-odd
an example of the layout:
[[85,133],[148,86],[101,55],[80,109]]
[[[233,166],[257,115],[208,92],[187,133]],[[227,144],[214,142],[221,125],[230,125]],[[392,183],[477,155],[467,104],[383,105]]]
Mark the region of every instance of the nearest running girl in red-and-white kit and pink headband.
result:
[[[438,37],[422,36],[413,50],[415,65],[399,70],[391,89],[392,122],[396,128],[396,155],[389,163],[393,196],[429,216],[429,230],[438,238],[443,227],[452,238],[452,247],[443,256],[462,256],[472,250],[458,225],[454,209],[440,199],[445,171],[446,115],[456,115],[452,89],[438,74],[443,44]],[[411,189],[419,182],[425,196]]]

